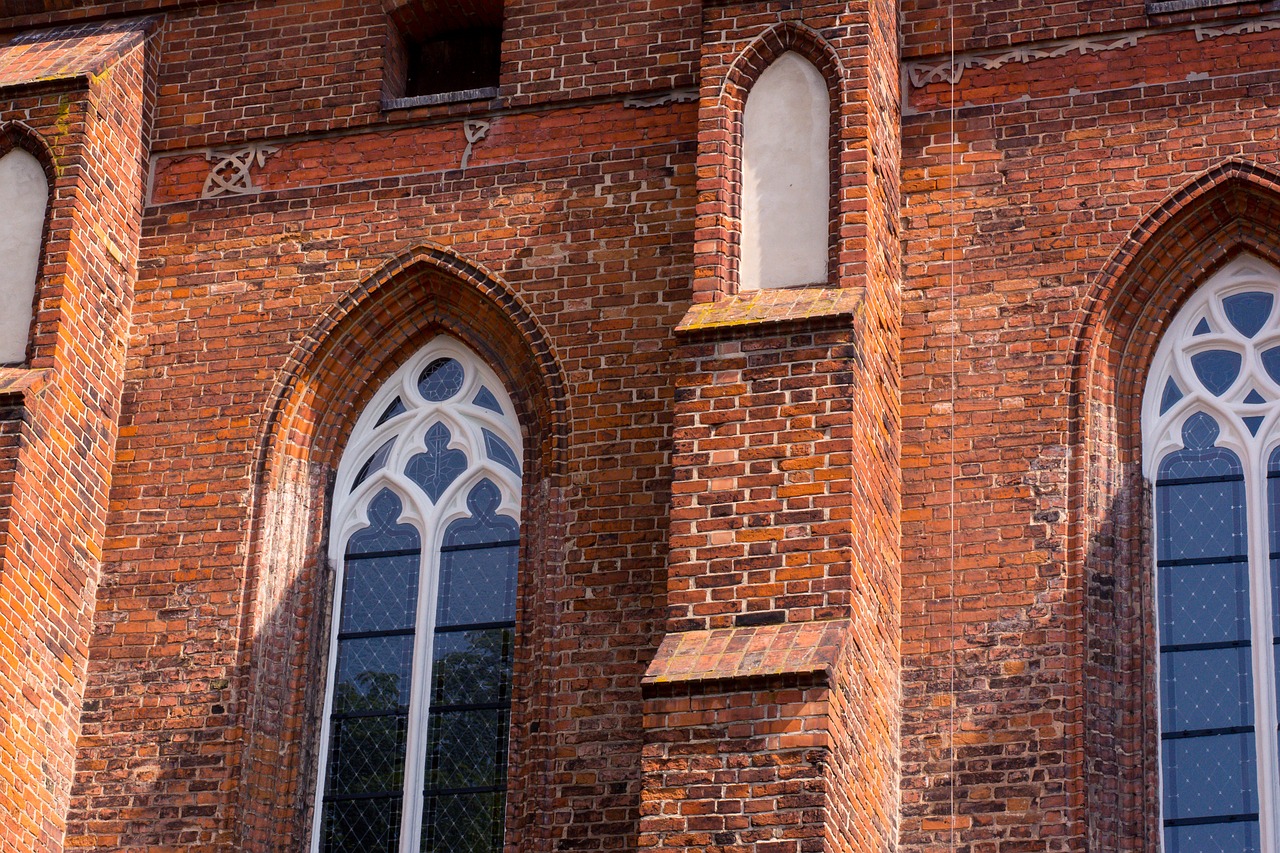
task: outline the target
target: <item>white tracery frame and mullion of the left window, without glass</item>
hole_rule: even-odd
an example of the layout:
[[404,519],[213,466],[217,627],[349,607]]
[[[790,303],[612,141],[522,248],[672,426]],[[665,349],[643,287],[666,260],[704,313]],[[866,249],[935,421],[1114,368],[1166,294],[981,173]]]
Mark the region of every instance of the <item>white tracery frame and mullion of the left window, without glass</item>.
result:
[[[465,371],[461,391],[448,401],[424,400],[417,378],[431,361],[442,357],[457,360]],[[484,386],[498,401],[503,414],[490,411],[472,401]],[[407,411],[376,425],[381,414],[399,397]],[[481,428],[488,428],[515,451],[524,465],[524,442],[516,407],[498,375],[468,347],[454,338],[440,336],[419,350],[388,379],[365,407],[338,464],[333,512],[329,528],[329,560],[335,566],[333,612],[329,631],[329,662],[325,678],[324,711],[320,727],[320,765],[316,779],[315,813],[311,826],[312,853],[320,849],[325,774],[329,763],[329,715],[338,665],[338,625],[342,615],[343,557],[353,533],[369,526],[369,505],[384,488],[401,500],[399,524],[412,525],[420,537],[417,615],[413,634],[413,666],[410,692],[407,754],[404,761],[403,808],[401,813],[401,853],[416,853],[422,830],[422,780],[426,772],[426,715],[431,684],[431,643],[435,631],[436,593],[440,574],[440,540],[449,524],[470,517],[467,494],[483,479],[498,487],[502,502],[498,515],[520,524],[520,476],[489,459]],[[404,466],[424,450],[426,430],[443,423],[449,429],[449,450],[467,456],[467,469],[433,503],[430,497],[408,476]],[[360,469],[388,439],[398,437],[385,465],[370,474],[360,485],[352,483]]]

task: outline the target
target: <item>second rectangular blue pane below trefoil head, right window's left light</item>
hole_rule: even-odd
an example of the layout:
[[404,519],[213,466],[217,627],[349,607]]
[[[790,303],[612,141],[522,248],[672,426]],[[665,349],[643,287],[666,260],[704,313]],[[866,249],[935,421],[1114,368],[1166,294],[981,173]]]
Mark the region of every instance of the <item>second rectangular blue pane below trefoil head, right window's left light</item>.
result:
[[1249,639],[1249,565],[1225,562],[1158,570],[1160,642]]

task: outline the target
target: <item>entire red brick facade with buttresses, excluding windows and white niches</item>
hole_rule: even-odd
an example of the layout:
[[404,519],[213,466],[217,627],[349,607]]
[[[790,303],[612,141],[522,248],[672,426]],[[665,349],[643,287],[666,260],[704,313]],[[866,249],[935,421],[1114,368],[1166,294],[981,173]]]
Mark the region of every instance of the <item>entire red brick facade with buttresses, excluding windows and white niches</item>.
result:
[[[442,332],[529,448],[508,850],[1152,849],[1135,406],[1280,261],[1280,3],[509,0],[495,97],[390,102],[431,14],[0,5],[0,853],[306,849],[328,491]],[[831,280],[740,293],[785,50]]]

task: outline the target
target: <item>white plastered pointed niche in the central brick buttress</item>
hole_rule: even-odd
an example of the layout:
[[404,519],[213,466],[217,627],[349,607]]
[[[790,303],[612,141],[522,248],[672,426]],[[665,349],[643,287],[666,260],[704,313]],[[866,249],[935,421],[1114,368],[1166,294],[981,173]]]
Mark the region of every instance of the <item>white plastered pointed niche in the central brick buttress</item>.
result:
[[831,95],[795,51],[778,56],[742,110],[739,287],[826,284],[831,234]]

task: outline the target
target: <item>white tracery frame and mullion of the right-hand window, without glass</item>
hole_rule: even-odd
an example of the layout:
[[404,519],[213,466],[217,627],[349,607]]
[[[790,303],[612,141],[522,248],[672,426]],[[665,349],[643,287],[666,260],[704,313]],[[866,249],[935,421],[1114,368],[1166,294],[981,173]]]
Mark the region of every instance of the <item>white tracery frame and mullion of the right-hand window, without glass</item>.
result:
[[[1265,291],[1275,296],[1267,323],[1252,339],[1245,338],[1228,321],[1221,310],[1226,296],[1247,291]],[[1211,318],[1215,332],[1194,336],[1201,318]],[[1272,660],[1271,571],[1267,512],[1267,460],[1280,446],[1280,384],[1266,373],[1260,353],[1280,346],[1280,270],[1253,255],[1240,255],[1211,275],[1166,328],[1152,360],[1142,403],[1143,475],[1152,485],[1161,461],[1183,450],[1183,424],[1196,412],[1213,416],[1220,428],[1215,444],[1231,450],[1244,469],[1245,523],[1249,549],[1249,620],[1253,653],[1254,744],[1258,766],[1258,831],[1262,849],[1277,849],[1280,841],[1280,768],[1276,766],[1276,693]],[[1192,369],[1190,356],[1203,350],[1230,348],[1243,355],[1240,375],[1221,396],[1204,389]],[[1160,414],[1166,380],[1174,377],[1184,396],[1164,415]],[[1270,393],[1267,403],[1245,403],[1251,388]],[[1243,416],[1265,415],[1257,434],[1251,434]],[[1155,530],[1155,519],[1152,523]],[[1153,538],[1153,540],[1156,540]],[[1155,548],[1152,548],[1155,552]],[[1152,571],[1155,571],[1153,553]],[[1156,596],[1156,584],[1152,584]],[[1152,613],[1158,613],[1153,601]],[[1156,619],[1158,634],[1158,617]],[[1157,637],[1158,648],[1158,637]],[[1156,657],[1156,690],[1158,695],[1160,657]],[[1157,704],[1157,725],[1158,725]],[[1164,808],[1164,771],[1160,772],[1160,799]],[[1161,815],[1161,845],[1164,816]]]

